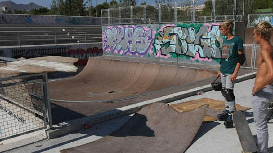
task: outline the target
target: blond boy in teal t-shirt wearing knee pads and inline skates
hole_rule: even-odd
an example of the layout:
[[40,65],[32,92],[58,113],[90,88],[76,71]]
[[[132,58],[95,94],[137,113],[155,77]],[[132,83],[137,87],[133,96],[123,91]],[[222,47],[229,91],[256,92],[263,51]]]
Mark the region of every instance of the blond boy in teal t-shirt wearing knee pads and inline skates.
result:
[[233,127],[232,114],[236,111],[234,83],[241,65],[245,61],[243,40],[232,34],[233,21],[224,21],[219,25],[220,32],[227,37],[222,45],[222,58],[217,76],[221,77],[221,93],[225,98],[226,110],[217,117],[226,128]]

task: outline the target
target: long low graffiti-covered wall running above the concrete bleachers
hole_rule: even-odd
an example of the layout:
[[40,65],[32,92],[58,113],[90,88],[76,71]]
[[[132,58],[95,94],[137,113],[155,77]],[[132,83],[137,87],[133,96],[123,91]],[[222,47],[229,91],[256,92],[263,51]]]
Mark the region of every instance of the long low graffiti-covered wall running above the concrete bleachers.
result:
[[0,24],[101,25],[100,17],[0,14]]

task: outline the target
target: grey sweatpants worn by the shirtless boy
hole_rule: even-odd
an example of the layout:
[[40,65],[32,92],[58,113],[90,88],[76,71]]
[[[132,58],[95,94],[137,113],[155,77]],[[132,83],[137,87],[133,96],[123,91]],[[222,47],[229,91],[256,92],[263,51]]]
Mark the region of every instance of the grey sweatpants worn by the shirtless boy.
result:
[[254,122],[258,137],[258,152],[267,152],[268,148],[268,128],[267,128],[267,108],[273,98],[273,86],[266,86],[255,93],[251,98],[253,106]]

